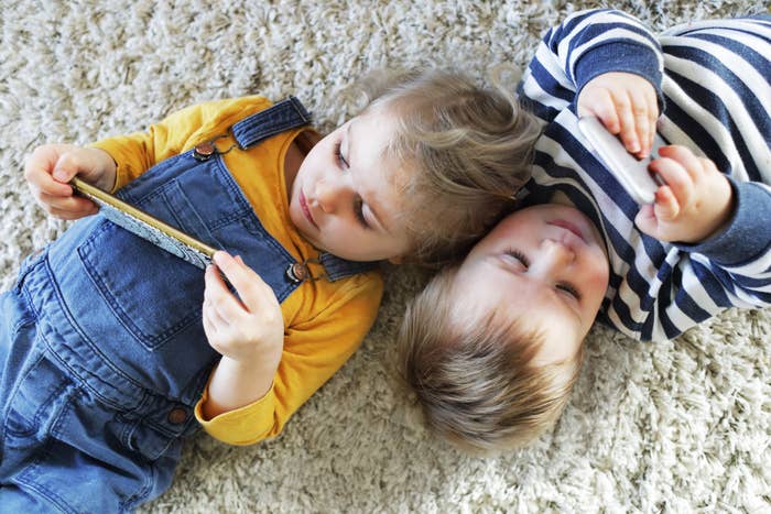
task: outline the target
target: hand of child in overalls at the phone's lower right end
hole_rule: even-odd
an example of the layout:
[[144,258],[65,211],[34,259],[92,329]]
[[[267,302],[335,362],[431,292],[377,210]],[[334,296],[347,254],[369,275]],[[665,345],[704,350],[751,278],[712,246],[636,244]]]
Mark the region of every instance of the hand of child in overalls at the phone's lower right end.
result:
[[230,293],[215,266],[208,266],[203,317],[209,345],[247,365],[278,365],[284,346],[284,320],[273,289],[240,256],[234,259],[218,251],[214,261],[241,299]]

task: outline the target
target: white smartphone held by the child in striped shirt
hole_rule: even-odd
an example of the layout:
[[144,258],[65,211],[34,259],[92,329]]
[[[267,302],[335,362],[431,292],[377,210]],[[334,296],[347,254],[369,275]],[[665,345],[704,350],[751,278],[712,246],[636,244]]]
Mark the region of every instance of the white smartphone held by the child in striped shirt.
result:
[[602,122],[595,117],[580,118],[578,128],[589,140],[595,154],[618,178],[634,201],[640,205],[652,204],[659,184],[648,171],[651,157],[638,161],[634,155],[627,152],[621,140],[608,132]]

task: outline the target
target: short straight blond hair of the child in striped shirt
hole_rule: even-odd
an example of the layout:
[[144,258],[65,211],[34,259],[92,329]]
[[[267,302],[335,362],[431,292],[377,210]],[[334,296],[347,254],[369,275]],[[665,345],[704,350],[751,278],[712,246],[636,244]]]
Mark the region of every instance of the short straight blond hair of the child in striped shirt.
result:
[[458,324],[456,272],[436,275],[408,305],[399,372],[439,437],[474,453],[520,447],[560,417],[580,371],[583,345],[573,358],[536,365],[545,332],[525,329],[522,318],[500,321],[489,313]]

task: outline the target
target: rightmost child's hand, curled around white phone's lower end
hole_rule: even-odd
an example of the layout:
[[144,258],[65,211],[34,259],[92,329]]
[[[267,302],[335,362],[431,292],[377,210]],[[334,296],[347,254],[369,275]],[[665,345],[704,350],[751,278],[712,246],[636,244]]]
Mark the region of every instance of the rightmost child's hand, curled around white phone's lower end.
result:
[[734,208],[734,190],[726,176],[708,158],[685,146],[662,146],[649,168],[666,185],[655,201],[643,206],[634,222],[660,241],[696,243],[716,233]]

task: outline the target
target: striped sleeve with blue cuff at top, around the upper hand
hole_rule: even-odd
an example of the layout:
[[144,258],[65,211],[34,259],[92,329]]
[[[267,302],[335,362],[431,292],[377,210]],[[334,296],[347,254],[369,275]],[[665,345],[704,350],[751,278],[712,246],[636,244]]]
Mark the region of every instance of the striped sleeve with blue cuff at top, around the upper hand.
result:
[[637,19],[613,10],[580,11],[544,35],[518,94],[551,122],[575,103],[584,85],[608,72],[647,78],[661,99],[662,70],[661,46]]

